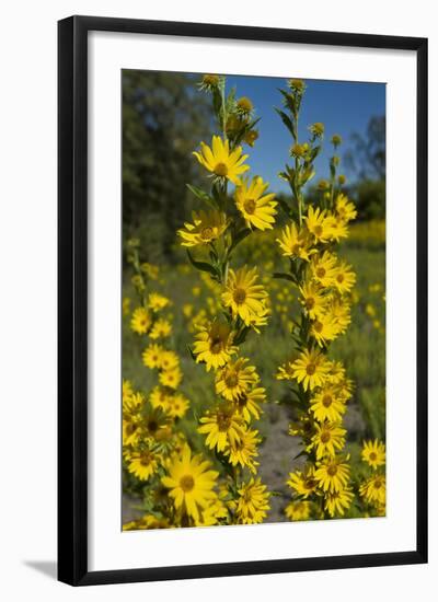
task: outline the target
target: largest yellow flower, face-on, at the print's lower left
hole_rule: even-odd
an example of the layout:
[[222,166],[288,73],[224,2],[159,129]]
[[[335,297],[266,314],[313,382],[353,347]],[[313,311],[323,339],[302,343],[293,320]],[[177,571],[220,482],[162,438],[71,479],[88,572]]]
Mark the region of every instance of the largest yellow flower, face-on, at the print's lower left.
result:
[[209,466],[210,463],[200,455],[192,456],[189,447],[184,445],[181,455],[174,456],[166,467],[168,475],[161,478],[176,510],[195,521],[200,518],[199,511],[217,497],[214,487],[219,473],[208,470]]

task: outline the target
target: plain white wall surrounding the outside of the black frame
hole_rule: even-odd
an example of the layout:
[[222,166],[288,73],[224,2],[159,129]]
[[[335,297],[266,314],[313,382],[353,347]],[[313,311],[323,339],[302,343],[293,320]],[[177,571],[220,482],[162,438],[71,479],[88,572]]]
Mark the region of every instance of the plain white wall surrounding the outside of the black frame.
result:
[[[293,28],[429,36],[430,107],[438,106],[438,34],[434,2],[382,0],[270,0],[254,2],[173,0],[65,0],[3,5],[0,93],[0,592],[9,601],[118,600],[289,600],[355,602],[411,600],[436,590],[437,518],[430,516],[428,566],[326,571],[281,576],[72,589],[57,583],[56,558],[56,21],[95,14]],[[435,135],[435,139],[434,139]],[[430,199],[437,198],[437,116],[430,114]],[[438,220],[430,204],[430,223]],[[430,245],[435,267],[438,238]],[[437,269],[430,306],[437,306]],[[430,340],[438,335],[430,315]],[[430,371],[438,354],[430,352]],[[437,422],[435,387],[430,425]],[[437,508],[438,443],[431,431],[430,507]],[[37,568],[35,568],[37,567]],[[43,569],[43,570],[42,570]],[[435,578],[434,578],[435,577]],[[429,597],[429,599],[431,599]]]

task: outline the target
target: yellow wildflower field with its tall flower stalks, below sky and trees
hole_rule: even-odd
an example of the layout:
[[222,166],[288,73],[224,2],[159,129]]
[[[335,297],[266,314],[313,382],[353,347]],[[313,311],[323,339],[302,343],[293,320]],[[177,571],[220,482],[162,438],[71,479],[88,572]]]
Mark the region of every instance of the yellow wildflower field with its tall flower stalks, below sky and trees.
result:
[[251,100],[204,76],[203,186],[171,253],[124,241],[124,530],[385,513],[384,220],[360,220],[328,124],[299,139],[306,91],[278,93],[276,195],[251,171]]

